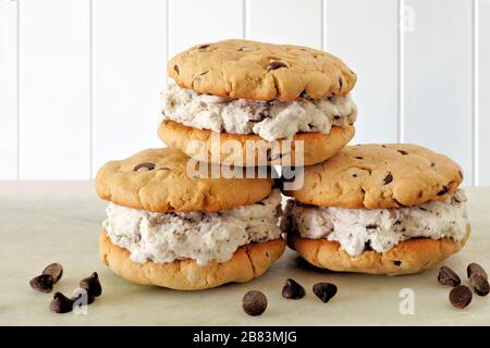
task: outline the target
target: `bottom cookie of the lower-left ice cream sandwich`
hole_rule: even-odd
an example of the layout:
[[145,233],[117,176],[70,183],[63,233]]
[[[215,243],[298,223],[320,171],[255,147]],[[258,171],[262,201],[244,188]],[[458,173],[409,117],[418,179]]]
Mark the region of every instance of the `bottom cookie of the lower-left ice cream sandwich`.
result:
[[137,263],[126,249],[112,244],[106,229],[100,234],[100,257],[113,272],[142,285],[156,285],[177,290],[198,290],[225,283],[244,283],[262,275],[284,252],[282,238],[240,247],[229,261],[199,266],[194,260],[169,263]]

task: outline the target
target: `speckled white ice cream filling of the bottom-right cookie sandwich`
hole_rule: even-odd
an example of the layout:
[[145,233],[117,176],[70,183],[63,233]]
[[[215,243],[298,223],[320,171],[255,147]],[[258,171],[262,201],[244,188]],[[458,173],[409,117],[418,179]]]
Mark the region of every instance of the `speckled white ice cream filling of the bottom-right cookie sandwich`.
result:
[[348,254],[385,252],[409,238],[452,238],[466,235],[466,197],[457,190],[445,201],[399,209],[314,207],[289,200],[281,227],[303,238],[335,240]]

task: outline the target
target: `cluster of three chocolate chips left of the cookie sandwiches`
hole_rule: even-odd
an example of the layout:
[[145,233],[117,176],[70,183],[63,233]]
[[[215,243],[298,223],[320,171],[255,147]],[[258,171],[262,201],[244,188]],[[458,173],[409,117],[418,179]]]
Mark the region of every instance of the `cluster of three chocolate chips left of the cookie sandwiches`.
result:
[[[63,266],[60,263],[47,265],[42,273],[30,279],[30,287],[40,293],[51,293],[53,285],[63,276]],[[57,291],[49,303],[49,309],[53,313],[68,313],[76,306],[86,306],[95,301],[96,297],[102,295],[97,272],[79,281],[78,288],[73,291],[72,297],[66,297]]]

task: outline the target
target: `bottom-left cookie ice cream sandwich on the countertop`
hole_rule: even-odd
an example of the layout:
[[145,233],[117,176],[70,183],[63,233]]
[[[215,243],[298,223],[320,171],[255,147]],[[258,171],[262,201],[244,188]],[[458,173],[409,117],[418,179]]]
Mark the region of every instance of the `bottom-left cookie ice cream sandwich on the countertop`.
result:
[[149,149],[99,170],[103,262],[131,282],[182,290],[260,276],[285,248],[273,179],[189,175],[189,160]]

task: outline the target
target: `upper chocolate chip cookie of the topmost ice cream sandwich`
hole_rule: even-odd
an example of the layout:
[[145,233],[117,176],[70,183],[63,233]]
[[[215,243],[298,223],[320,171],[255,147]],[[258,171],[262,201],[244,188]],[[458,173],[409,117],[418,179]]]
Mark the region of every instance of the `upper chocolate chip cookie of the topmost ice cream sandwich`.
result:
[[238,39],[194,46],[169,61],[168,73],[200,94],[265,101],[345,96],[357,79],[330,53]]

